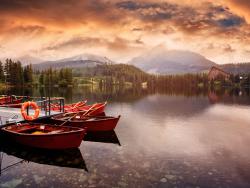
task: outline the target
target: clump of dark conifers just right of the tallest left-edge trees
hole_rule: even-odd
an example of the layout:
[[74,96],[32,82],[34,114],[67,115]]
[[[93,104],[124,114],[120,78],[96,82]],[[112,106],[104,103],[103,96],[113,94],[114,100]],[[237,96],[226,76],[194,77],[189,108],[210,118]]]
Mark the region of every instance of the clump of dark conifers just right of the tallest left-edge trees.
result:
[[36,75],[41,86],[66,87],[73,84],[73,74],[70,68],[62,68],[60,70],[49,68],[41,72],[37,71]]

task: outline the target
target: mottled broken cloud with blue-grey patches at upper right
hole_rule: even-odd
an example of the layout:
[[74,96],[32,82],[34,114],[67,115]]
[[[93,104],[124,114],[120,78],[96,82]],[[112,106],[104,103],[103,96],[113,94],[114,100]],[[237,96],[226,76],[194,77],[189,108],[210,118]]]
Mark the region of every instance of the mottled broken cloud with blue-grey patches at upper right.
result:
[[[134,19],[140,20],[142,25],[146,24],[143,30],[160,28],[160,24],[166,24],[191,34],[204,30],[223,32],[245,24],[244,18],[230,12],[227,7],[210,2],[193,7],[169,2],[122,1],[116,6],[125,11],[125,14],[127,11]],[[151,27],[148,26],[149,23]],[[169,33],[170,30],[161,31]]]

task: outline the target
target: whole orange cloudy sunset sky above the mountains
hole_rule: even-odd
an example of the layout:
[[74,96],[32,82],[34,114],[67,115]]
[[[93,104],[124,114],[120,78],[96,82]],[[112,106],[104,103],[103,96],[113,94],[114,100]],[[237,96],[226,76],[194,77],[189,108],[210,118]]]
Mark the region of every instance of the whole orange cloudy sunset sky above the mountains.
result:
[[0,58],[91,53],[126,63],[158,45],[250,61],[250,1],[0,0]]

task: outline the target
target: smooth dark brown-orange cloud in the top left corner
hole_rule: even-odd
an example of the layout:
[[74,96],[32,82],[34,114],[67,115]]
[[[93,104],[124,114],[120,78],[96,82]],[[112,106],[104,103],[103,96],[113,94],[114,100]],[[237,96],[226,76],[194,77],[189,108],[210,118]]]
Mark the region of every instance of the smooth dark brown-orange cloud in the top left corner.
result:
[[57,27],[79,26],[89,22],[115,24],[121,15],[110,1],[100,0],[0,0],[0,16]]

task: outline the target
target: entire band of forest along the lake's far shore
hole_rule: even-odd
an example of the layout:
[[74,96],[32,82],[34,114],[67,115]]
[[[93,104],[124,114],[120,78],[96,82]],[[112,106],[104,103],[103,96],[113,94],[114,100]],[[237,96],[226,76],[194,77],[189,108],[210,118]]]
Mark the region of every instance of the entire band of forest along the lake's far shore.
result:
[[[249,71],[250,72],[250,71]],[[219,76],[209,81],[207,74],[153,75],[127,64],[104,64],[95,67],[62,68],[34,71],[31,65],[22,67],[20,61],[0,61],[0,83],[8,85],[37,85],[67,87],[77,84],[99,84],[110,88],[113,85],[145,86],[151,89],[211,88],[214,86],[250,86],[250,73],[232,74],[229,79]]]

